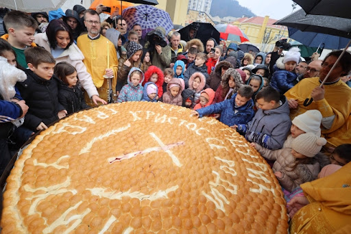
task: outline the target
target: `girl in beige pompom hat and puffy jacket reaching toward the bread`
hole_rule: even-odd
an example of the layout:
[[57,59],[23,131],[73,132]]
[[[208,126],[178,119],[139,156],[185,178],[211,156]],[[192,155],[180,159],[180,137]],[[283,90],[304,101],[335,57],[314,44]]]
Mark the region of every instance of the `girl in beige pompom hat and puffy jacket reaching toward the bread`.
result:
[[282,148],[271,151],[254,142],[251,146],[266,159],[276,160],[273,165],[274,174],[280,185],[291,192],[300,184],[317,179],[320,168],[329,163],[325,157],[315,157],[325,144],[326,139],[313,133],[303,133],[293,140],[291,150]]

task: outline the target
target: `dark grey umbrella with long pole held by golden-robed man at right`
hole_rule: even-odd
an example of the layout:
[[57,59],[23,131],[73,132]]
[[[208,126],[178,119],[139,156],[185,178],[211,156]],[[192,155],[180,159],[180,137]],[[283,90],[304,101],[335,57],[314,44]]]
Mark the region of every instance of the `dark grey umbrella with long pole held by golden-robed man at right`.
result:
[[[289,14],[285,18],[282,18],[280,21],[274,23],[276,25],[285,25],[289,27],[293,27],[295,29],[299,29],[301,31],[313,31],[322,34],[330,34],[335,36],[342,36],[344,38],[351,39],[351,19],[348,18],[339,18],[335,16],[316,16],[311,14],[306,14],[304,10],[298,10],[295,13]],[[350,46],[351,40],[346,45],[343,52],[338,57],[337,62],[332,66],[329,70],[328,75],[324,78],[324,81],[320,84],[319,87],[322,87],[324,82],[328,79],[332,70],[334,70],[335,66],[346,52],[346,49]],[[304,106],[308,106],[312,103],[313,99],[306,99],[304,101]]]

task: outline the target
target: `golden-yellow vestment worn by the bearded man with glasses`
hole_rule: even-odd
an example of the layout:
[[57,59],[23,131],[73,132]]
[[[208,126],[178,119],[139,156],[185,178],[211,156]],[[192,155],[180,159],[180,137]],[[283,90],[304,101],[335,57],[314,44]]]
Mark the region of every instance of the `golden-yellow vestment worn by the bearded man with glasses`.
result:
[[[115,92],[117,82],[118,60],[114,44],[104,36],[99,36],[95,40],[88,38],[88,34],[84,34],[77,39],[77,46],[84,55],[84,64],[86,70],[93,78],[96,88],[101,88],[104,84],[104,75],[106,68],[112,68],[114,78],[112,79],[112,89]],[[110,64],[108,66],[108,55]],[[106,82],[107,83],[107,82]]]

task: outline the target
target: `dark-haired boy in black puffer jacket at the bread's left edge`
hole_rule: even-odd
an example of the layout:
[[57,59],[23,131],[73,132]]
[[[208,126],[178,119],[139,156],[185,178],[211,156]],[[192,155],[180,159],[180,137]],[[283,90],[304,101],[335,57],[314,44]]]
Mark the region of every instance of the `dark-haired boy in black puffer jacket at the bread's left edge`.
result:
[[16,86],[29,107],[23,126],[35,132],[47,129],[67,112],[58,102],[60,81],[53,75],[52,55],[41,47],[33,47],[25,50],[25,60],[29,68],[25,70],[27,79]]

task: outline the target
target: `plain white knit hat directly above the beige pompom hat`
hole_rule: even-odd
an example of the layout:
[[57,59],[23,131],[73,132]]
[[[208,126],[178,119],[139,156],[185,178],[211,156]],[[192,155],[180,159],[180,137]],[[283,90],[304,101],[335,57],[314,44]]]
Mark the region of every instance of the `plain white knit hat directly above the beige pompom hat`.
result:
[[304,114],[300,114],[293,119],[293,125],[305,133],[313,133],[317,137],[321,136],[322,114],[317,109],[310,109]]

